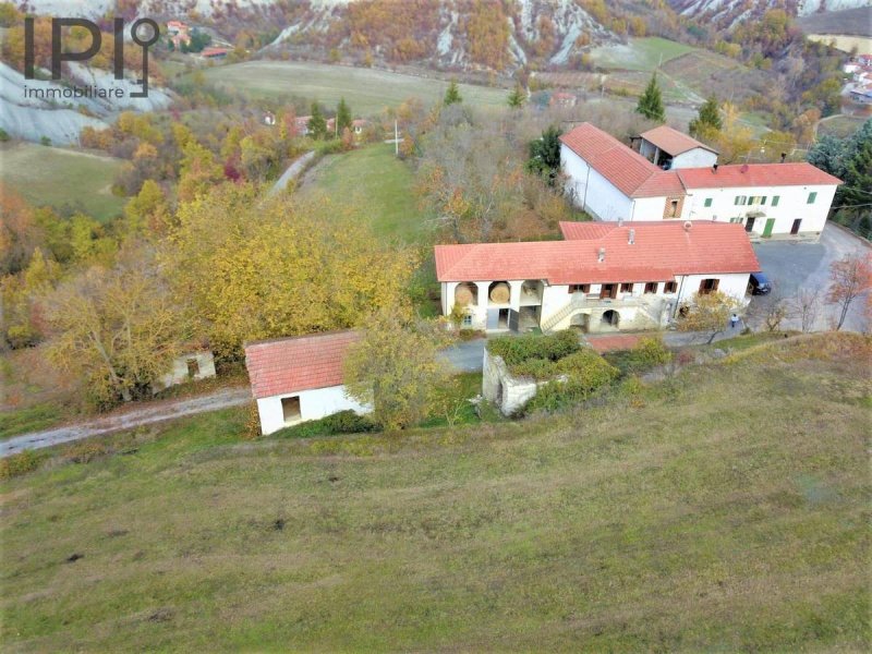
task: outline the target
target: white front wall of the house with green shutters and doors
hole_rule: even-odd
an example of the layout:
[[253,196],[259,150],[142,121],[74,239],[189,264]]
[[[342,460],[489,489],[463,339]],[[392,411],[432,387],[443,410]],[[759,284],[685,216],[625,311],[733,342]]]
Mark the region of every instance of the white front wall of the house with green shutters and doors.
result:
[[[810,193],[818,193],[813,204],[808,204]],[[730,218],[742,217],[747,222],[749,211],[760,211],[763,216],[754,220],[753,235],[762,235],[766,219],[774,218],[773,238],[790,238],[794,220],[802,219],[798,238],[816,239],[826,225],[826,216],[833,204],[836,186],[744,186],[728,189],[693,189],[685,199],[682,218],[688,220],[711,220],[729,222]],[[736,196],[752,195],[766,197],[765,205],[736,205]],[[772,206],[774,196],[778,196],[778,205]],[[706,198],[712,206],[706,207]]]

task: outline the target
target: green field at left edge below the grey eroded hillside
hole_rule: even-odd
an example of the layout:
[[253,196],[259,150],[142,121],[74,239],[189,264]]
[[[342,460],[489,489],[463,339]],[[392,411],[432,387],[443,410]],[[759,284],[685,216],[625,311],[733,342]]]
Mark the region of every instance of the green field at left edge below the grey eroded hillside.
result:
[[124,198],[111,186],[121,161],[33,143],[0,146],[0,180],[36,206],[64,205],[98,220],[121,213]]

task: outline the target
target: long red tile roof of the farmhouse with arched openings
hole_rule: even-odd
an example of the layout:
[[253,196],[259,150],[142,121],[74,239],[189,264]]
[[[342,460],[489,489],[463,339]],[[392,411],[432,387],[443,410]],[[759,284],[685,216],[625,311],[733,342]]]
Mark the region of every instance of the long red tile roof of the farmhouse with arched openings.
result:
[[[753,272],[754,251],[739,223],[561,222],[566,241],[437,245],[439,281],[545,279],[550,283],[664,281],[676,275]],[[635,242],[630,245],[630,229]],[[600,263],[598,253],[606,251]]]

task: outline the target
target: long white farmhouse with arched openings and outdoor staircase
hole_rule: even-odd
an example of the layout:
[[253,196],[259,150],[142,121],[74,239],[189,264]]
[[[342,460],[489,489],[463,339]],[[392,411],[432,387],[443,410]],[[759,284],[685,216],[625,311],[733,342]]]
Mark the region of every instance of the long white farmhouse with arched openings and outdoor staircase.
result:
[[561,222],[564,241],[437,245],[441,310],[469,329],[656,329],[694,293],[747,303],[760,270],[741,226]]

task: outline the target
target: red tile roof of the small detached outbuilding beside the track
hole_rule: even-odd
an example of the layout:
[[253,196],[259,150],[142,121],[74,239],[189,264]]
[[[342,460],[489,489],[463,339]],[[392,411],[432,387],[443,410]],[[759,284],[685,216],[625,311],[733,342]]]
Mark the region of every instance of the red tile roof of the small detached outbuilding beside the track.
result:
[[356,331],[247,343],[245,367],[255,399],[342,384],[342,361]]

